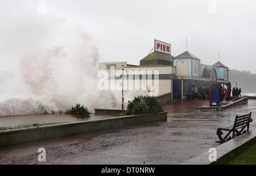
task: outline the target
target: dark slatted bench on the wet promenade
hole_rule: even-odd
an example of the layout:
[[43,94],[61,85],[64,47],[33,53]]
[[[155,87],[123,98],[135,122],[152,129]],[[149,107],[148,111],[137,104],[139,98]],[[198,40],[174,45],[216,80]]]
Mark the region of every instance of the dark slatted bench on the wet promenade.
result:
[[[221,127],[217,129],[217,135],[220,139],[221,143],[225,143],[226,141],[229,141],[231,139],[234,139],[234,137],[242,135],[243,133],[246,133],[246,127],[247,131],[249,131],[250,122],[253,121],[251,119],[251,112],[250,114],[242,115],[242,116],[236,116],[236,119],[234,121],[234,124],[228,125],[225,127]],[[223,131],[228,132],[225,137],[222,138],[221,135],[223,135]]]

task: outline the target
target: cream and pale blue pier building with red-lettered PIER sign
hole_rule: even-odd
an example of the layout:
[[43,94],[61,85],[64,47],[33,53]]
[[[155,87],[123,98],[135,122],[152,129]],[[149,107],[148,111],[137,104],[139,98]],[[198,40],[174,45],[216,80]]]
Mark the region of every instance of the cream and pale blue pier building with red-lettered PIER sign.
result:
[[[159,41],[163,44],[161,41]],[[155,41],[155,51],[144,57],[140,61],[140,65],[129,65],[127,62],[105,62],[100,63],[100,69],[115,69],[115,77],[121,77],[121,66],[124,65],[125,79],[140,79],[142,83],[142,75],[139,77],[129,75],[129,71],[158,71],[158,96],[171,94],[172,99],[187,99],[191,86],[225,87],[229,83],[229,69],[220,61],[213,65],[201,64],[200,58],[192,55],[188,51],[174,57],[170,53],[162,52],[158,46],[158,40]],[[167,44],[168,45],[168,44]],[[171,45],[170,45],[171,47]],[[135,72],[134,72],[135,73]],[[146,79],[155,79],[154,74]],[[154,82],[154,81],[152,81]],[[153,85],[154,86],[154,85]],[[139,91],[138,91],[139,95]]]

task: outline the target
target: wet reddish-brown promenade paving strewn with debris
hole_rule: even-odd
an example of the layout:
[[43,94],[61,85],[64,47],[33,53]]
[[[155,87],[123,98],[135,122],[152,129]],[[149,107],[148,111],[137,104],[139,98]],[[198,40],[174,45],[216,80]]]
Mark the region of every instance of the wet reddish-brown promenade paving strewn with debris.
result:
[[[167,122],[0,148],[0,164],[180,164],[219,145],[217,128],[232,124],[236,115],[252,112],[250,129],[256,130],[256,100],[225,111],[193,113],[196,106],[208,103],[165,105]],[[47,152],[44,163],[37,161],[41,147]]]

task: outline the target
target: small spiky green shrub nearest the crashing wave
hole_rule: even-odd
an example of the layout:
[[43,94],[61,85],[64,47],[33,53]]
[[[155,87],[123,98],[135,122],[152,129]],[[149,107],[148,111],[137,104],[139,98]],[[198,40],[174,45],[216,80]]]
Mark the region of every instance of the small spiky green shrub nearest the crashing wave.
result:
[[86,107],[76,104],[71,110],[67,110],[65,114],[71,114],[76,118],[89,118],[91,113]]

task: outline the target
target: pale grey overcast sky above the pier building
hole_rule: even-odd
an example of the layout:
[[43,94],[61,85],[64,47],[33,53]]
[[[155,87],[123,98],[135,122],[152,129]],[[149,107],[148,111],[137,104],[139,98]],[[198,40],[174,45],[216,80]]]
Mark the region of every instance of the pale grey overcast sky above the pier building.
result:
[[[0,0],[1,26],[9,16],[38,13],[38,0]],[[255,0],[45,0],[46,13],[83,24],[96,41],[101,62],[139,65],[154,39],[172,44],[172,55],[188,51],[203,64],[256,73]],[[216,2],[216,9],[214,8]],[[42,3],[41,3],[42,4]],[[0,26],[0,27],[1,27]],[[1,41],[0,41],[1,42]],[[2,58],[1,58],[2,60]]]

